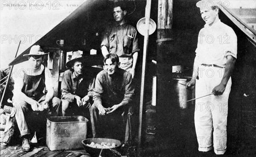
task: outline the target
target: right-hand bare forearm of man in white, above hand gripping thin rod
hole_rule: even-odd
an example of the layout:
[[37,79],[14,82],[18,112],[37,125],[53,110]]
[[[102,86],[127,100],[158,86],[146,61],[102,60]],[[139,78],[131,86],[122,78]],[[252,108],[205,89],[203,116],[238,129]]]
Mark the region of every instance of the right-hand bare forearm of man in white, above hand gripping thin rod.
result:
[[230,76],[232,75],[232,72],[234,70],[235,62],[236,62],[236,59],[233,56],[227,56],[227,63],[226,63],[223,78],[221,80],[221,84],[225,86],[227,85],[227,82],[230,79]]

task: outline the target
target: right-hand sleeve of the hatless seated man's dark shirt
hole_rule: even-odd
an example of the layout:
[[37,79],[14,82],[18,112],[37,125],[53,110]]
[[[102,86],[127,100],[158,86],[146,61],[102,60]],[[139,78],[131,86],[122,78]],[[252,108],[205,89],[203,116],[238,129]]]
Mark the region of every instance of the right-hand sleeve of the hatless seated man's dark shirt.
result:
[[133,100],[133,96],[134,96],[134,86],[132,84],[131,74],[128,73],[125,80],[125,96],[121,102],[122,106],[129,104]]

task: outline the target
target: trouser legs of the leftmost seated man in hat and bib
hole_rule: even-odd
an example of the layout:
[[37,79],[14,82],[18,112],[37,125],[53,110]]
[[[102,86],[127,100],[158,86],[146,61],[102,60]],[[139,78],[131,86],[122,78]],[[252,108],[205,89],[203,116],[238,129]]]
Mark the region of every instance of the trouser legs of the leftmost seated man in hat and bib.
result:
[[[38,101],[38,103],[42,103],[45,100],[45,95],[42,96]],[[20,98],[13,97],[13,106],[15,108],[15,118],[17,121],[17,126],[20,130],[20,135],[29,135],[30,127],[28,121],[34,120],[34,115],[37,115],[40,111],[33,111],[31,105],[21,100]],[[58,109],[61,104],[61,100],[59,98],[53,97],[52,101],[49,102],[49,110],[44,110],[45,114],[50,114],[52,116],[58,115]]]

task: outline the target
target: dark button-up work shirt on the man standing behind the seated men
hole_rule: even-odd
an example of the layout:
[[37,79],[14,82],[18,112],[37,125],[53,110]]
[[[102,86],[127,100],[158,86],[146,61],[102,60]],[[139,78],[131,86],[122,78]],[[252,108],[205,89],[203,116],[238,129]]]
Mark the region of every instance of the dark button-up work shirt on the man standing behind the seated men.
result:
[[103,45],[108,48],[109,53],[115,53],[119,57],[132,57],[133,53],[140,51],[137,30],[127,23],[115,23],[108,27],[103,35],[101,46]]

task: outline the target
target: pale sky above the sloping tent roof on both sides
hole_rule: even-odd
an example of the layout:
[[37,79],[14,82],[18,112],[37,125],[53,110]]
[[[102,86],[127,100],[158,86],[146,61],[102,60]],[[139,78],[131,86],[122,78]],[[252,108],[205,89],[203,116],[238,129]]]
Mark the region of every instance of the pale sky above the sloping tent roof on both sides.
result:
[[[214,0],[228,8],[256,8],[256,0]],[[156,0],[153,0],[156,3]],[[0,0],[0,68],[78,8],[84,0]]]

